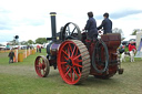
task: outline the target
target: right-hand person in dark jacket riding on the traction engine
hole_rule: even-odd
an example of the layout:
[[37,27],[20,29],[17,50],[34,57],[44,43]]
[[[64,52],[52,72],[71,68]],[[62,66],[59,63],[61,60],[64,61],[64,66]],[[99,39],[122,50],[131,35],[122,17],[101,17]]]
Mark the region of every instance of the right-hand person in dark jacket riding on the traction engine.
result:
[[103,34],[112,33],[112,21],[109,19],[109,13],[104,13],[103,17],[104,20],[102,21],[101,25],[98,27],[98,30],[103,28]]

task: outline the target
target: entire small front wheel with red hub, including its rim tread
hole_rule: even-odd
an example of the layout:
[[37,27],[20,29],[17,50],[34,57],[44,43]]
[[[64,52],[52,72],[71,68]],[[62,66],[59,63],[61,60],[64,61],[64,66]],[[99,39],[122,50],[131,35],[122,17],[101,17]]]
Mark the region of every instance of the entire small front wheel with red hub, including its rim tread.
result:
[[34,62],[36,72],[40,77],[45,77],[49,74],[50,65],[45,56],[37,56]]

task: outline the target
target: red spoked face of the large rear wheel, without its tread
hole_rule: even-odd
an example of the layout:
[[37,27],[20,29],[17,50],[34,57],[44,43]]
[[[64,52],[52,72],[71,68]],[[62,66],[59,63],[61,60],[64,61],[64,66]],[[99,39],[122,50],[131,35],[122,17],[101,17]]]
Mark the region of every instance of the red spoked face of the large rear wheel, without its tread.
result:
[[67,41],[60,46],[58,69],[63,81],[77,84],[81,79],[82,59],[79,48],[72,41]]

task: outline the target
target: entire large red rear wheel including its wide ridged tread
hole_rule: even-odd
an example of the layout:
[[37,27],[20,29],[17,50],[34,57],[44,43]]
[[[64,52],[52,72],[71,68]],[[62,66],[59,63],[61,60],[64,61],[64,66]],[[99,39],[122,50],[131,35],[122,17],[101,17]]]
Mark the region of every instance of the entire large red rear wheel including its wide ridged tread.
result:
[[85,45],[78,40],[64,41],[58,53],[58,69],[68,84],[79,84],[90,73],[90,55]]

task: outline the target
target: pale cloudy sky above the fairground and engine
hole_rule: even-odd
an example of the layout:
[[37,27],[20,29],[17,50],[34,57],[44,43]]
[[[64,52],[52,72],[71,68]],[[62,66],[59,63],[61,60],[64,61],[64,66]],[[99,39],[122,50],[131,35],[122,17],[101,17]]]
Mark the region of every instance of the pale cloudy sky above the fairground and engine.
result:
[[57,12],[57,31],[67,22],[82,30],[92,11],[100,25],[104,12],[110,13],[113,29],[122,29],[124,36],[133,29],[142,29],[141,0],[0,0],[0,42],[36,40],[51,36],[50,12]]

